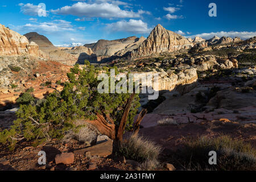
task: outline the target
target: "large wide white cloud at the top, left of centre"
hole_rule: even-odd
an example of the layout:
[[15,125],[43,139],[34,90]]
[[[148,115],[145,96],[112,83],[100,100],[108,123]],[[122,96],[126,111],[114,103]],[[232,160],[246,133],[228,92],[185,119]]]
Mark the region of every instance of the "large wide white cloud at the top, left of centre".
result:
[[60,15],[75,15],[86,17],[99,18],[138,18],[141,14],[148,11],[139,10],[138,13],[130,10],[122,10],[117,4],[102,2],[102,3],[86,3],[77,2],[72,6],[64,6],[57,10],[51,10],[52,13]]

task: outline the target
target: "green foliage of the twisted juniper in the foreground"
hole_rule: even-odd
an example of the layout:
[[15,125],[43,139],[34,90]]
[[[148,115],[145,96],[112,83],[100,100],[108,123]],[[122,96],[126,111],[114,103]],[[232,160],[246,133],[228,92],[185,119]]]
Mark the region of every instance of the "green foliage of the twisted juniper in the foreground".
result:
[[[130,94],[100,94],[97,86],[97,73],[100,68],[86,63],[86,68],[79,65],[71,68],[67,74],[69,81],[64,83],[61,92],[53,92],[44,100],[35,101],[28,90],[18,98],[20,109],[11,129],[0,133],[0,142],[9,144],[13,149],[19,140],[28,140],[38,145],[52,138],[62,138],[66,131],[75,128],[73,121],[78,118],[95,119],[96,113],[110,115],[115,124],[119,125],[123,114],[123,107]],[[116,69],[117,71],[117,69]],[[109,73],[109,68],[105,68]],[[130,109],[126,130],[130,130],[133,118],[139,107],[138,94],[134,97]]]

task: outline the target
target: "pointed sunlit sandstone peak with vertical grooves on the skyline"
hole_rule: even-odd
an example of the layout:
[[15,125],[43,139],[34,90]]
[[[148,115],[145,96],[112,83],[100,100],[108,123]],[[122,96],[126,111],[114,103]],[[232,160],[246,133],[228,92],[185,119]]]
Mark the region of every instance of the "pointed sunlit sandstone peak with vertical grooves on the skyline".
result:
[[158,24],[141,46],[131,52],[131,55],[135,57],[148,56],[164,52],[173,52],[180,49],[188,49],[192,46],[193,44],[184,36],[166,30],[163,26]]

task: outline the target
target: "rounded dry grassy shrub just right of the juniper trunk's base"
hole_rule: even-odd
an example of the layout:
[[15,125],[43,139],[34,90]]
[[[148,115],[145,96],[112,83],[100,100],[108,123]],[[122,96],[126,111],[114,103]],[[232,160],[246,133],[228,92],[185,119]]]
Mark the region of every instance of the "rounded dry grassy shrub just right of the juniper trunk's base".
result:
[[131,136],[119,147],[121,155],[127,159],[145,162],[146,160],[157,160],[162,148],[154,142],[142,137]]

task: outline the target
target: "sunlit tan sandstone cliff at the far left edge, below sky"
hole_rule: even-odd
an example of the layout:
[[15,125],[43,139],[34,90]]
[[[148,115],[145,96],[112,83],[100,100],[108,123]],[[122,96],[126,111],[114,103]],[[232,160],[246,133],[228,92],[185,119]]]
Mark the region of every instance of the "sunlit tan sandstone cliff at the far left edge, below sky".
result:
[[22,55],[24,53],[39,56],[39,47],[34,42],[28,42],[26,36],[0,24],[0,55]]

